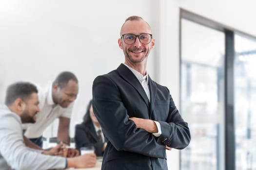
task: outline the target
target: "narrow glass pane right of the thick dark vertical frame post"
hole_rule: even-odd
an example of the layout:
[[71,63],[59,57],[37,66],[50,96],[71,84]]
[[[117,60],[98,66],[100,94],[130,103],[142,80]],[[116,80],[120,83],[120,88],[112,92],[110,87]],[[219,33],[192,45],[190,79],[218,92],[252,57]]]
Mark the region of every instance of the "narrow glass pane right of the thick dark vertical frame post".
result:
[[256,40],[235,35],[236,170],[256,170]]

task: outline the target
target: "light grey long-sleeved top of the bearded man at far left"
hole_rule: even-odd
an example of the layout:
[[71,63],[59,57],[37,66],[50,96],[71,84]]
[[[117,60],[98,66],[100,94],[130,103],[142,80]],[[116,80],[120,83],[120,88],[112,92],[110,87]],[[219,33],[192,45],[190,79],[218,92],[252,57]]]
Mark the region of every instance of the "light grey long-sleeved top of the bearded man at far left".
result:
[[66,159],[28,148],[23,139],[20,116],[0,107],[0,170],[49,170],[65,168]]

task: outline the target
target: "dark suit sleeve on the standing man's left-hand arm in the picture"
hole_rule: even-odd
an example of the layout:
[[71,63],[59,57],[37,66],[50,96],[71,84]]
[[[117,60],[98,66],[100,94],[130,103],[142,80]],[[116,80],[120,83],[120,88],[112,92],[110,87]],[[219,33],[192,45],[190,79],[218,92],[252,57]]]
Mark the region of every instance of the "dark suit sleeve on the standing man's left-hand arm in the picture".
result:
[[107,76],[98,76],[94,81],[93,110],[116,150],[165,158],[165,145],[129,120],[118,86]]

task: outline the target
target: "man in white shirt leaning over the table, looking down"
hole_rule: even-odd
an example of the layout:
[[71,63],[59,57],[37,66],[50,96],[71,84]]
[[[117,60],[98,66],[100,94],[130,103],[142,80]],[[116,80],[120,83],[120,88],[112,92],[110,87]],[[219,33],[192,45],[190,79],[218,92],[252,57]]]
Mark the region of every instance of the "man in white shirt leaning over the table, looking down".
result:
[[[33,148],[42,147],[43,131],[55,120],[59,119],[58,141],[70,143],[70,117],[79,91],[78,79],[72,72],[61,72],[55,81],[46,89],[39,88],[40,113],[34,124],[24,124],[25,142]],[[30,139],[32,142],[27,140]],[[78,154],[77,151],[75,154]]]

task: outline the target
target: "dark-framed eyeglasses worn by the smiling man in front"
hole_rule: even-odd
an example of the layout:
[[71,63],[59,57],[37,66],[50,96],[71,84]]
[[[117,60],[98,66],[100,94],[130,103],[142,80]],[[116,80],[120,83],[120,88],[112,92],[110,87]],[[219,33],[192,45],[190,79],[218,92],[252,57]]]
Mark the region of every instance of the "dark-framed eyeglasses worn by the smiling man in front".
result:
[[126,44],[133,44],[135,43],[137,36],[141,44],[148,44],[151,42],[152,39],[152,34],[122,34],[121,38],[123,38],[123,41]]

